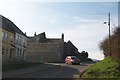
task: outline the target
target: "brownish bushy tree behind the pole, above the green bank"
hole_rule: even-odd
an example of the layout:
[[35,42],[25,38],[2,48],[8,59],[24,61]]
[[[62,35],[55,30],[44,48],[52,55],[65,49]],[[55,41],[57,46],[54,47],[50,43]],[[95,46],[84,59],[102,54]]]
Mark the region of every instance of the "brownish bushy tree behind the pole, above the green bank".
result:
[[[105,57],[109,56],[109,46],[108,46],[109,38],[105,38],[100,43],[100,50],[103,51]],[[120,27],[115,28],[113,34],[110,37],[110,50],[111,56],[115,59],[118,59],[118,55],[120,53]]]

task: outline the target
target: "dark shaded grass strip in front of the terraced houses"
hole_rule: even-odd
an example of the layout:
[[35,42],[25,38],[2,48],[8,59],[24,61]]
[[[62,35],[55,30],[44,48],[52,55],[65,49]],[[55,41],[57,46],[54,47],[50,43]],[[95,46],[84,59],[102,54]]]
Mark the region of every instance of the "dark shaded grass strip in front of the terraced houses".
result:
[[12,63],[12,64],[2,64],[2,71],[10,71],[10,70],[16,70],[21,68],[28,68],[36,65],[40,65],[43,63]]

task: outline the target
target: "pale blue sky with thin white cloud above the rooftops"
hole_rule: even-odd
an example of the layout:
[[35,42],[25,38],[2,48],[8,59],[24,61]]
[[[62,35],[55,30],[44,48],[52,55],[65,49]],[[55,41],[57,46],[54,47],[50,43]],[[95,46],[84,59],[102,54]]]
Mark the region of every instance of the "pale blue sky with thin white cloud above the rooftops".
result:
[[100,42],[108,35],[108,13],[111,31],[118,24],[117,2],[0,2],[0,14],[13,21],[28,36],[46,32],[47,38],[70,40],[79,52],[90,58],[103,59]]

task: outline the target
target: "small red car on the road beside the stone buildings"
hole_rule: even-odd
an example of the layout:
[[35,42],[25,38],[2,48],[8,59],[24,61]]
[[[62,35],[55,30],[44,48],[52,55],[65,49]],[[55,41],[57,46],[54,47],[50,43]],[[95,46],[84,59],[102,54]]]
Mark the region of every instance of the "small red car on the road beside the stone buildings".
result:
[[65,58],[66,64],[80,64],[80,60],[76,56],[67,56]]

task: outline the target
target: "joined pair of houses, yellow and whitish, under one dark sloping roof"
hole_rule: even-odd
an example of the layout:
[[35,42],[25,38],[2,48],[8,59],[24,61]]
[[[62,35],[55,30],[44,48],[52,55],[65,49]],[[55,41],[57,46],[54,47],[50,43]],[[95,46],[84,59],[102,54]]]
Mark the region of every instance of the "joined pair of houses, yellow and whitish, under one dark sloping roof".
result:
[[9,19],[0,15],[1,41],[2,41],[2,62],[23,61],[27,36]]

